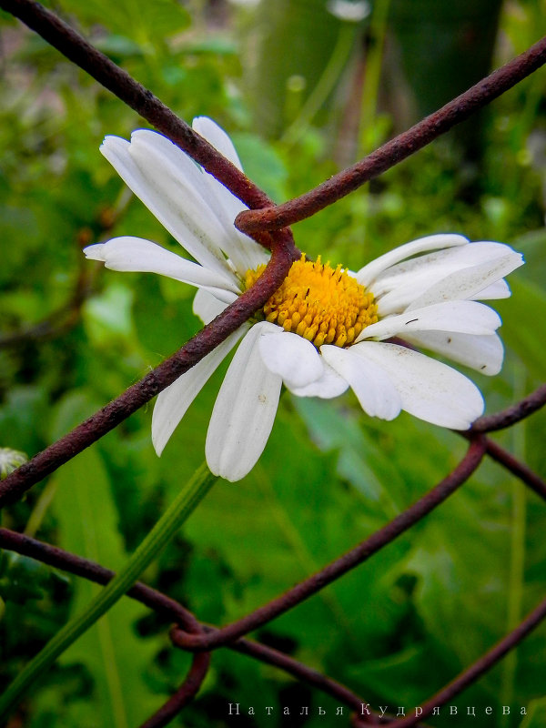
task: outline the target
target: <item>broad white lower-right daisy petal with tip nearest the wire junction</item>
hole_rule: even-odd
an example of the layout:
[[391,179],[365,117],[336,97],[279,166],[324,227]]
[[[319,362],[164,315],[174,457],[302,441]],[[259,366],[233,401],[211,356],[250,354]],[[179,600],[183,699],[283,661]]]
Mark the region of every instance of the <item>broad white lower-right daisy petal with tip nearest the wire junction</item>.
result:
[[402,409],[420,420],[468,430],[483,412],[480,389],[440,361],[377,341],[364,341],[354,349],[389,376],[399,391]]

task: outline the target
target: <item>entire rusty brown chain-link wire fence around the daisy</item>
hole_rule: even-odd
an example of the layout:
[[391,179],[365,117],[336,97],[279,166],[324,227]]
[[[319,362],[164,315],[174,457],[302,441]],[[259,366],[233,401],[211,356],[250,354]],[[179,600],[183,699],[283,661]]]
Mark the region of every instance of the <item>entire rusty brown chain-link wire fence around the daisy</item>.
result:
[[[159,391],[165,389],[174,379],[177,379],[181,373],[206,356],[219,342],[226,339],[230,332],[237,329],[243,321],[263,306],[286,276],[292,261],[298,257],[298,251],[294,246],[288,225],[313,215],[319,209],[327,207],[340,197],[349,194],[372,177],[376,177],[389,167],[398,164],[402,159],[409,157],[410,154],[426,146],[452,126],[490,103],[491,100],[519,83],[546,62],[546,38],[543,38],[541,42],[533,45],[511,63],[501,67],[476,86],[472,86],[469,91],[426,117],[409,131],[392,139],[354,167],[349,167],[339,175],[330,178],[306,195],[275,207],[258,187],[255,187],[247,177],[230,165],[213,147],[209,147],[201,137],[196,136],[191,128],[177,118],[156,96],[136,83],[131,76],[128,76],[95,47],[88,44],[83,37],[76,34],[56,15],[32,0],[0,0],[0,7],[42,35],[69,60],[86,70],[99,83],[135,109],[158,131],[171,138],[190,157],[193,157],[242,199],[250,209],[239,215],[237,223],[239,229],[251,234],[272,252],[266,273],[238,299],[236,304],[229,306],[224,314],[202,329],[196,337],[190,339],[173,357],[164,361],[144,379],[127,389],[103,410],[96,412],[75,430],[38,453],[35,458],[3,480],[0,483],[0,507],[19,500],[25,491],[35,483],[76,457],[79,452],[99,440],[106,432],[113,430],[120,422],[152,399]],[[410,725],[420,724],[434,713],[435,708],[450,703],[457,694],[500,662],[507,652],[516,647],[546,618],[546,598],[516,629],[492,646],[489,652],[483,654],[479,660],[471,664],[449,684],[441,687],[437,693],[421,703],[419,711],[400,719],[398,716],[388,713],[379,715],[366,707],[368,702],[365,694],[353,693],[335,679],[309,668],[306,664],[298,662],[283,652],[248,640],[246,635],[263,627],[280,614],[297,608],[298,604],[324,589],[329,583],[339,579],[348,571],[358,567],[397,539],[401,533],[408,531],[463,486],[484,458],[496,461],[501,468],[510,471],[513,476],[546,501],[546,481],[489,437],[490,433],[495,430],[509,428],[530,417],[545,403],[546,385],[543,385],[511,408],[477,420],[470,431],[460,433],[469,441],[468,449],[462,460],[420,500],[415,501],[410,508],[389,521],[365,541],[357,544],[352,550],[237,622],[221,628],[202,623],[196,615],[166,594],[140,582],[132,586],[127,591],[128,596],[175,623],[176,626],[170,632],[173,646],[193,653],[191,667],[177,693],[143,723],[141,728],[157,728],[167,725],[183,711],[187,703],[199,691],[207,676],[211,654],[217,649],[233,650],[246,654],[251,659],[266,662],[328,694],[335,698],[339,705],[348,709],[354,726],[394,723],[406,728]],[[112,571],[100,564],[8,529],[0,529],[0,547],[99,584],[106,584],[114,577]]]

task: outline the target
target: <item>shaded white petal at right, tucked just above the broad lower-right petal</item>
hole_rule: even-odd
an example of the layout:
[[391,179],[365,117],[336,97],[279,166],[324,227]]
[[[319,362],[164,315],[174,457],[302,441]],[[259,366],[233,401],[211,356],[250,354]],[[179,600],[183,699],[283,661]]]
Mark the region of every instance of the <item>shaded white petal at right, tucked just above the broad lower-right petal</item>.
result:
[[459,364],[492,376],[501,371],[504,348],[497,334],[472,336],[444,331],[421,331],[405,340],[420,349],[430,349]]

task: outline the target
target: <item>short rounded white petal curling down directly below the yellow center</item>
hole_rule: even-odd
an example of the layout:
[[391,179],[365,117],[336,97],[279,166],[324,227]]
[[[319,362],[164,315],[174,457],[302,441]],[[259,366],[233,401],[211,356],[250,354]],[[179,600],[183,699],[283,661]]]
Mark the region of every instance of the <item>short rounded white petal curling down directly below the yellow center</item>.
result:
[[264,364],[282,377],[288,389],[305,387],[324,373],[319,352],[310,341],[280,327],[258,341]]

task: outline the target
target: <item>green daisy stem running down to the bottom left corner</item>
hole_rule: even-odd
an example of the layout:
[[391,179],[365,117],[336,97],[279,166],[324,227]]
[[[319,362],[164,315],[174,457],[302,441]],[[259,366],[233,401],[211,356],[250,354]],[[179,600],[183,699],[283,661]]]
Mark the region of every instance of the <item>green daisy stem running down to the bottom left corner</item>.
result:
[[52,640],[47,642],[45,648],[26,665],[25,670],[7,688],[0,698],[0,723],[3,723],[7,713],[15,707],[27,688],[56,661],[56,658],[76,642],[81,634],[95,624],[135,584],[140,574],[175,535],[216,480],[217,476],[208,470],[206,463],[203,463],[147,534],[146,539],[138,546],[124,568],[87,606],[85,612],[68,622]]

